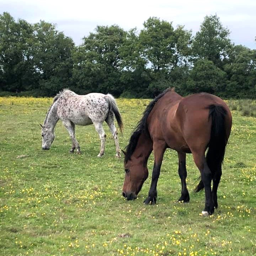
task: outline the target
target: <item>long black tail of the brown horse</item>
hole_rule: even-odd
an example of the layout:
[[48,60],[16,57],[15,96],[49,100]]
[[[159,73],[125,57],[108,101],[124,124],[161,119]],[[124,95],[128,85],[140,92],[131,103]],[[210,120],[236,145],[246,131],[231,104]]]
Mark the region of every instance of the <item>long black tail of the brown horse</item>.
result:
[[[225,155],[225,148],[228,142],[225,128],[225,116],[227,114],[226,109],[219,105],[210,105],[209,118],[212,117],[212,127],[210,134],[210,142],[208,145],[208,151],[206,154],[206,162],[209,166],[212,176],[215,170],[222,164]],[[204,188],[202,180],[195,188],[195,192],[198,192]]]

